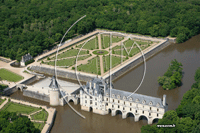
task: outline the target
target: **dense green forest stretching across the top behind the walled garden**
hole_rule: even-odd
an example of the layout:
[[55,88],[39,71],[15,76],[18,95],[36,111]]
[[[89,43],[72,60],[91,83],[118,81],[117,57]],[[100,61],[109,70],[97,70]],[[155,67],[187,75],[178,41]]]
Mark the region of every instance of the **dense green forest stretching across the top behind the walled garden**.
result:
[[199,0],[0,0],[0,56],[21,59],[96,28],[153,37],[177,37],[181,43],[200,32]]

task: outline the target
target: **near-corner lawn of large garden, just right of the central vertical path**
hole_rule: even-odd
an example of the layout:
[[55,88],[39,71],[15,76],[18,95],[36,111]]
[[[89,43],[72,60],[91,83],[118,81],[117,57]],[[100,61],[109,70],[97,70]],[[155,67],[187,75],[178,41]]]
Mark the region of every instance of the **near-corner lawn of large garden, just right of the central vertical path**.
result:
[[[123,58],[121,59],[121,57],[118,57],[118,56],[114,56],[112,55],[112,68],[114,68],[115,66],[117,66],[118,64],[121,63],[121,60],[122,61],[125,61],[126,59]],[[107,72],[109,69],[110,69],[110,56],[104,56],[103,57],[103,64],[104,64],[104,72]]]

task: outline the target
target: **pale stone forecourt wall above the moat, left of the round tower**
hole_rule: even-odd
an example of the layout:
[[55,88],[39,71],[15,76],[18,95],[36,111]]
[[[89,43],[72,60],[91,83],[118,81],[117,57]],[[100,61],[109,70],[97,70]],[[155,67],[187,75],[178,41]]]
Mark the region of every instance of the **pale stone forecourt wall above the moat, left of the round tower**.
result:
[[23,95],[31,98],[35,98],[41,101],[50,102],[50,98],[48,95],[40,94],[34,91],[23,90]]

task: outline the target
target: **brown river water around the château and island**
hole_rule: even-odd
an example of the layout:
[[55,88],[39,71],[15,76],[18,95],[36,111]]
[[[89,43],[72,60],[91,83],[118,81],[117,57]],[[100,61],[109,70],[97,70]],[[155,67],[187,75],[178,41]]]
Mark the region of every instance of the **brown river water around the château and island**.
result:
[[[176,109],[183,94],[189,90],[194,83],[195,71],[200,67],[199,50],[200,35],[197,35],[185,43],[172,44],[154,55],[146,62],[146,76],[137,93],[160,98],[162,98],[163,94],[166,94],[168,109]],[[173,59],[177,59],[183,64],[184,75],[182,86],[174,90],[163,90],[158,85],[157,78],[166,72]],[[143,68],[143,64],[138,65],[136,68],[114,81],[114,87],[125,91],[134,91],[142,79]],[[12,94],[11,97],[49,106],[49,103],[23,96],[20,91]],[[57,114],[51,133],[139,133],[142,125],[147,124],[146,120],[134,122],[133,117],[122,119],[120,114],[114,117],[110,114],[101,116],[80,110],[80,105],[73,105],[73,103],[71,103],[71,105],[83,114],[86,119],[75,114],[68,105],[55,107]]]

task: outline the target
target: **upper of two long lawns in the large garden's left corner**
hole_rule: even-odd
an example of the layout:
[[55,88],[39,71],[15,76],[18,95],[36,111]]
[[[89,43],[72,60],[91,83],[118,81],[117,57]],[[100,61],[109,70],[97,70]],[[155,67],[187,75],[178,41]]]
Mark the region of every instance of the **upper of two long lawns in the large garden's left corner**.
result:
[[[71,56],[77,56],[78,52],[79,52],[79,49],[70,49],[70,50],[67,50],[65,52],[62,52],[61,54],[58,54],[57,59],[71,57]],[[86,50],[81,50],[79,52],[79,55],[84,55],[84,54],[87,54]],[[52,57],[51,60],[52,59],[55,59],[55,56]]]

